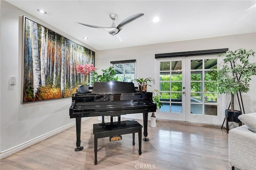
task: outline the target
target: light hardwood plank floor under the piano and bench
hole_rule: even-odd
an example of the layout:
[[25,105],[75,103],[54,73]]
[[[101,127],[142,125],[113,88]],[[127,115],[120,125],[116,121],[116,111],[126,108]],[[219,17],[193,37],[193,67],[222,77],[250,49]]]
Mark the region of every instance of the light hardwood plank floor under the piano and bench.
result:
[[[137,120],[143,125],[142,120]],[[71,127],[46,140],[0,160],[1,170],[231,170],[228,164],[228,134],[225,129],[157,122],[148,123],[149,142],[142,141],[138,154],[138,134],[132,146],[132,134],[109,142],[98,139],[98,165],[94,165],[96,117],[82,122],[81,146],[75,152],[76,128]]]

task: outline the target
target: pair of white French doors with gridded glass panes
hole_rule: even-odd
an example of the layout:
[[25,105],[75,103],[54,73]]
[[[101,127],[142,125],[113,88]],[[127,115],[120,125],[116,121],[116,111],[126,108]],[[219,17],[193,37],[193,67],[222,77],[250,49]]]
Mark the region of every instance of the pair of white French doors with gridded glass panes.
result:
[[221,125],[222,96],[208,72],[217,69],[216,56],[156,60],[156,89],[163,106],[158,119]]

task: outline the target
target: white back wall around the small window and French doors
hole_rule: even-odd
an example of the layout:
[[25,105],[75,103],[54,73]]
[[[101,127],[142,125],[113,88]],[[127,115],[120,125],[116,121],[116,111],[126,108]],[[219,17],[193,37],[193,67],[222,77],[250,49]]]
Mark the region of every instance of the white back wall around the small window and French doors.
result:
[[[101,50],[98,51],[96,65],[100,69],[105,69],[110,66],[110,61],[136,59],[136,77],[154,78],[156,61],[155,54],[157,53],[173,53],[220,48],[235,50],[241,47],[247,50],[253,49],[256,51],[256,33]],[[252,57],[250,62],[256,62],[256,56]],[[256,112],[255,86],[256,76],[253,76],[250,91],[242,94],[245,113]],[[155,89],[154,86],[149,87],[148,91],[152,91],[152,89]]]

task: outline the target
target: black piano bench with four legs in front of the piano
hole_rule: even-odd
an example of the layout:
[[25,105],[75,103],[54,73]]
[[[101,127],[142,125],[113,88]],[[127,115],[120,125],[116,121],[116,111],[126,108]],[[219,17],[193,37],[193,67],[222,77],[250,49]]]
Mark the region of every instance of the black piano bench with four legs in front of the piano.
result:
[[118,121],[93,124],[94,134],[94,164],[97,165],[98,138],[118,136],[132,133],[132,145],[135,145],[135,133],[139,135],[139,154],[141,155],[142,125],[137,121]]

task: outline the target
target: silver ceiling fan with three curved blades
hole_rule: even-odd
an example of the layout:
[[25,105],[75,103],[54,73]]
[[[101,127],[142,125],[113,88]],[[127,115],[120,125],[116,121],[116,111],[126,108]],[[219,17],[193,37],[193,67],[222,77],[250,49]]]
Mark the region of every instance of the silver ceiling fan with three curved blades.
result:
[[92,27],[92,28],[101,28],[103,30],[106,30],[112,36],[114,36],[122,30],[124,25],[128,24],[129,22],[132,22],[133,20],[136,20],[137,18],[140,18],[141,16],[144,16],[144,14],[140,13],[140,14],[134,14],[132,16],[129,16],[128,18],[124,19],[117,27],[116,27],[116,24],[115,24],[115,20],[117,19],[118,15],[110,14],[109,16],[110,16],[111,20],[113,21],[111,27],[92,26],[92,25],[89,25],[89,24],[82,24],[82,23],[79,23],[79,22],[78,22],[78,24],[82,24],[84,26],[88,26],[88,27]]

